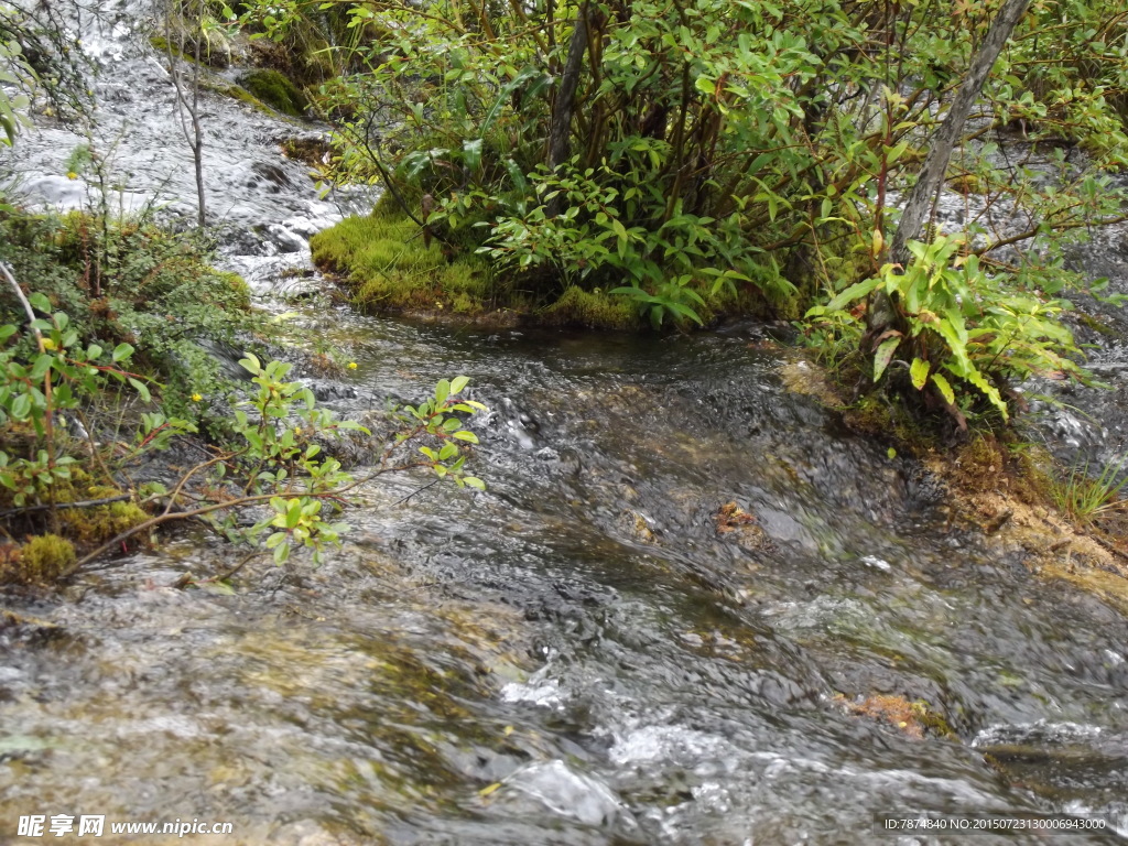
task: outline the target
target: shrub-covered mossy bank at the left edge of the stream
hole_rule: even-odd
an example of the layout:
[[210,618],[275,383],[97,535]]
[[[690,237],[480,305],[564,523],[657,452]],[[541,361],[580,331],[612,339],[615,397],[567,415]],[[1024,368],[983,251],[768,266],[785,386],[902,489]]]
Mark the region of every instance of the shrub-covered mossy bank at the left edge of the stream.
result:
[[224,422],[209,400],[228,384],[203,344],[258,324],[243,279],[209,258],[192,233],[148,221],[0,214],[0,261],[44,336],[0,285],[0,584],[50,584],[148,520],[136,490],[161,469],[139,477],[133,459],[170,417],[177,431]]

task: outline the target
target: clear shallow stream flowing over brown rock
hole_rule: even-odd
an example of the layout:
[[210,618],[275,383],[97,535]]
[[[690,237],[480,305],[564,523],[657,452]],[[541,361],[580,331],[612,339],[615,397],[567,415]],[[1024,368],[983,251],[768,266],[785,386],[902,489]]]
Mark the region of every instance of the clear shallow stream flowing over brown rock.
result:
[[[127,95],[104,108],[144,123],[120,164],[151,196],[182,153],[131,20],[102,83]],[[288,177],[231,184],[226,262],[276,294],[307,255],[276,255],[272,224],[336,212],[277,153],[290,127],[244,108],[209,100],[215,155]],[[64,142],[21,140],[26,178]],[[259,565],[235,596],[168,587],[232,564],[187,534],[6,600],[42,624],[0,622],[0,841],[28,841],[32,813],[235,829],[134,843],[962,841],[874,828],[926,812],[1107,821],[973,843],[1128,838],[1123,610],[955,528],[919,468],[788,387],[802,362],[757,327],[481,332],[264,302],[358,362],[320,386],[342,412],[469,376],[488,490],[381,477],[324,566]],[[928,715],[896,710],[916,700]]]

